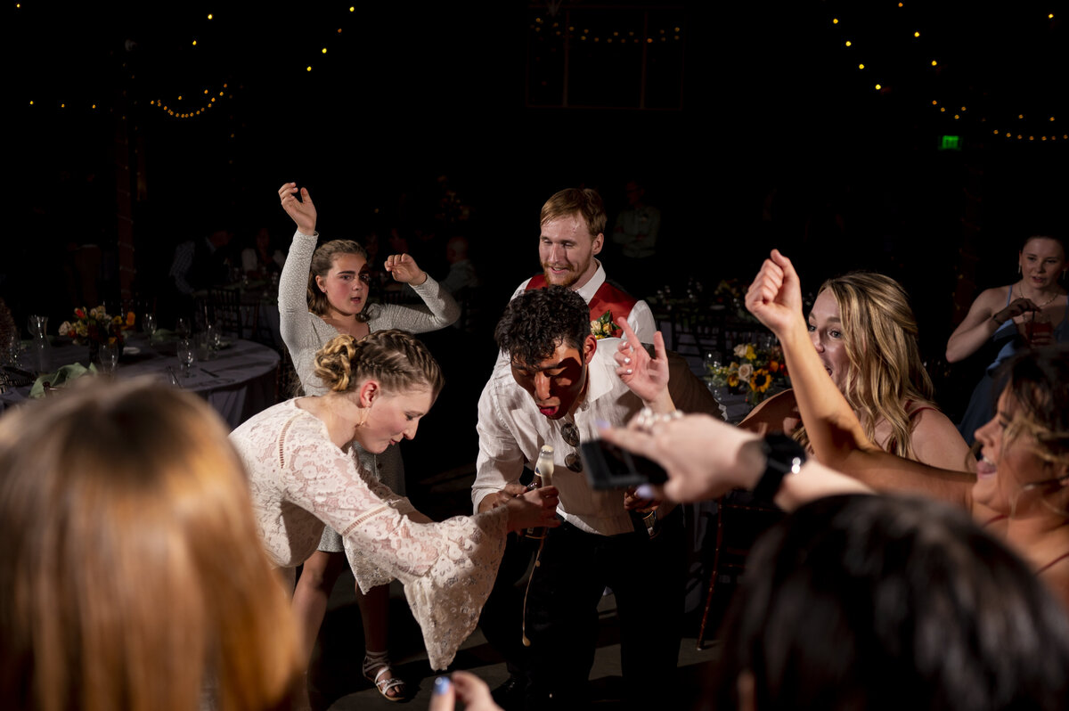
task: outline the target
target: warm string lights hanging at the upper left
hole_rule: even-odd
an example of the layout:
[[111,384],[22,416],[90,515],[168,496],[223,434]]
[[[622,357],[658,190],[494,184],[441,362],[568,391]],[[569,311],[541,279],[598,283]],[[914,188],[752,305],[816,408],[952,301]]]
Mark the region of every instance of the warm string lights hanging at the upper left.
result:
[[[339,4],[339,15],[338,18],[341,20],[343,17],[352,16],[356,12],[356,6],[347,3],[337,3]],[[22,4],[17,4],[16,10],[21,10]],[[182,44],[185,45],[185,49],[192,51],[207,51],[212,49],[213,43],[219,44],[226,42],[226,37],[218,36],[211,32],[211,24],[218,17],[217,13],[207,13],[198,30],[191,31],[190,35],[187,36]],[[343,34],[343,27],[338,27],[342,25],[343,21],[335,21],[334,27],[329,31],[330,42],[337,43],[337,37]],[[324,40],[316,46],[313,57],[306,58],[305,61],[300,63],[300,68],[304,73],[312,72],[313,67],[316,66],[317,62],[325,61],[330,42]],[[123,71],[128,72],[126,65],[123,65]],[[136,80],[137,76],[129,74],[130,80]],[[234,98],[234,90],[231,87],[230,81],[216,80],[214,82],[205,82],[201,88],[193,91],[176,91],[168,96],[156,96],[149,99],[149,106],[167,114],[169,118],[176,120],[185,119],[196,119],[198,117],[204,115],[208,110],[218,107],[224,101]],[[62,97],[43,99],[41,94],[48,93],[47,91],[35,92],[37,96],[28,97],[26,99],[26,105],[31,108],[44,108],[52,107],[56,110],[77,110],[83,109],[90,112],[96,112],[100,110],[112,110],[103,99],[66,99]],[[53,92],[55,93],[55,92]],[[136,103],[136,102],[135,102]]]

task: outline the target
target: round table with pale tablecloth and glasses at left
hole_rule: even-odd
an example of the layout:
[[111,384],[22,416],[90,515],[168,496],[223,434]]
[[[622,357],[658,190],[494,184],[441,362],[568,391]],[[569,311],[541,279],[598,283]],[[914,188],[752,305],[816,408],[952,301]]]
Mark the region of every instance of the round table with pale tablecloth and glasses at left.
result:
[[[40,351],[29,343],[19,358],[21,370],[52,373],[63,366],[89,366],[89,346],[76,345],[67,339],[53,342]],[[201,351],[198,355],[205,355]],[[114,376],[129,378],[149,376],[162,383],[196,392],[207,400],[231,429],[257,413],[274,405],[277,400],[279,355],[274,349],[246,340],[223,342],[207,358],[198,358],[188,374],[177,358],[177,342],[144,335],[127,339]],[[91,375],[84,375],[88,377]],[[32,384],[9,387],[0,393],[0,415],[31,399]]]

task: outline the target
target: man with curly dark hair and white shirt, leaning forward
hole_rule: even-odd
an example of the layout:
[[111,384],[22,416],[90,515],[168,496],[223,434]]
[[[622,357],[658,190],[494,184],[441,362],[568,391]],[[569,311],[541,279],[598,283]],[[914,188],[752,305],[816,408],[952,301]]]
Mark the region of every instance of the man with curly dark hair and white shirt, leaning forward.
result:
[[[484,633],[510,663],[510,682],[526,689],[526,708],[586,708],[598,603],[606,586],[616,596],[629,698],[663,694],[676,667],[683,574],[679,512],[667,516],[662,508],[654,513],[661,521],[644,522],[635,509],[650,503],[622,490],[591,489],[579,458],[580,442],[597,438],[599,423],[624,424],[644,406],[675,409],[661,335],[654,335],[650,357],[626,321],[618,324],[629,340],[597,339],[583,297],[551,285],[516,296],[495,331],[506,357],[479,401],[471,500],[476,511],[485,511],[522,493],[525,465],[532,468],[540,449],[552,445],[563,521],[545,538],[526,608],[491,603],[487,614],[497,619],[483,616]],[[656,538],[653,526],[661,531]],[[511,587],[514,579],[502,581],[506,575],[500,572],[498,582]],[[495,631],[508,638],[498,644]],[[530,640],[526,655],[517,649],[523,635]],[[513,691],[512,700],[517,696]]]

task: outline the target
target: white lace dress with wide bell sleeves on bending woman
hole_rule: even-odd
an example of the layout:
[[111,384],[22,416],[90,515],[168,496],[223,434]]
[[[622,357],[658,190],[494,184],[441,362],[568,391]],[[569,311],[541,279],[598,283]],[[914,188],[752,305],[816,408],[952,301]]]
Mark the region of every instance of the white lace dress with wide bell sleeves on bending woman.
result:
[[418,524],[396,495],[330,442],[326,424],[290,400],[234,430],[260,536],[276,566],[293,569],[314,551],[327,524],[370,566],[354,567],[367,591],[392,578],[423,631],[431,667],[452,662],[479,620],[505,550],[503,507]]

